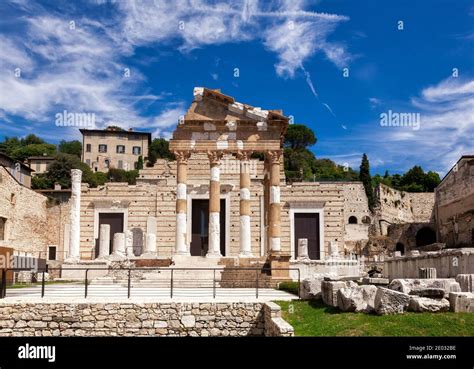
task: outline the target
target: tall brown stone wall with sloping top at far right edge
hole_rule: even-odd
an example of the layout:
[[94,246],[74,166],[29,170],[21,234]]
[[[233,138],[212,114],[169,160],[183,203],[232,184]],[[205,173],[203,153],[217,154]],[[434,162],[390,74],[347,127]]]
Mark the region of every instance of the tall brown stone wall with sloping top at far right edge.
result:
[[474,246],[474,158],[461,158],[436,188],[438,241]]

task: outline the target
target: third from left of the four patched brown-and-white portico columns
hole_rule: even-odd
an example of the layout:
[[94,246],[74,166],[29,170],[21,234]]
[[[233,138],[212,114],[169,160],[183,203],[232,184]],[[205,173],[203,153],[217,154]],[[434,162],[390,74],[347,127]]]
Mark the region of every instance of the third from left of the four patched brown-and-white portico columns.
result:
[[240,257],[252,257],[250,227],[250,152],[237,153],[240,160]]

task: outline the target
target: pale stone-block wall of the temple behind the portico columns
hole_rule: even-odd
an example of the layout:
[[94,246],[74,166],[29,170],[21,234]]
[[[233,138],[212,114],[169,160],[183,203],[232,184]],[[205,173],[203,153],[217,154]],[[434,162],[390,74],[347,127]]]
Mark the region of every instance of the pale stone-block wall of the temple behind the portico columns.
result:
[[[265,230],[262,222],[263,202],[263,161],[251,160],[250,220],[251,249],[254,256],[265,253]],[[209,159],[205,154],[192,154],[188,161],[188,196],[190,199],[208,198],[210,180]],[[226,199],[228,227],[226,229],[228,248],[226,256],[237,256],[239,245],[239,201],[240,167],[231,155],[224,155],[221,162],[221,198]],[[358,182],[304,182],[286,185],[283,166],[281,170],[281,247],[291,252],[290,204],[292,202],[324,204],[324,251],[328,242],[345,246],[345,237],[352,244],[366,240],[366,225],[359,225],[356,231],[345,233],[345,218],[356,213],[362,219],[369,213],[363,186]],[[189,200],[191,201],[191,200]],[[188,206],[189,210],[190,206]],[[158,160],[154,167],[140,171],[137,184],[107,183],[98,188],[82,187],[81,196],[81,251],[85,256],[95,246],[98,236],[94,224],[94,212],[123,211],[127,214],[126,229],[139,229],[146,232],[147,217],[157,218],[158,255],[170,257],[174,253],[176,224],[176,162]],[[188,223],[190,220],[188,219]],[[351,245],[352,245],[351,244]]]

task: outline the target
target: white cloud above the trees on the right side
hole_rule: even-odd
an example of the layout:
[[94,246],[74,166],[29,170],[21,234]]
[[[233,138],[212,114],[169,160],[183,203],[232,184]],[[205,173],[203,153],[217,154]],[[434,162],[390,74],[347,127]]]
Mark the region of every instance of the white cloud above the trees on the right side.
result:
[[357,128],[350,137],[334,140],[328,149],[356,141],[373,168],[407,170],[421,164],[425,170],[445,173],[461,155],[474,153],[473,86],[472,79],[446,79],[424,88],[408,104],[390,108],[419,113],[419,130],[381,127],[376,120]]

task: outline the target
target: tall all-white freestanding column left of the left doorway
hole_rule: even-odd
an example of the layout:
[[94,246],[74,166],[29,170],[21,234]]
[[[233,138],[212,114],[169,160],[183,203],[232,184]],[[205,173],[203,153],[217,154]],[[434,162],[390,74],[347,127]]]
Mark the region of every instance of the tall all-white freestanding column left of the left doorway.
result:
[[66,261],[81,259],[81,180],[82,171],[71,169],[71,213],[69,227],[69,255]]

